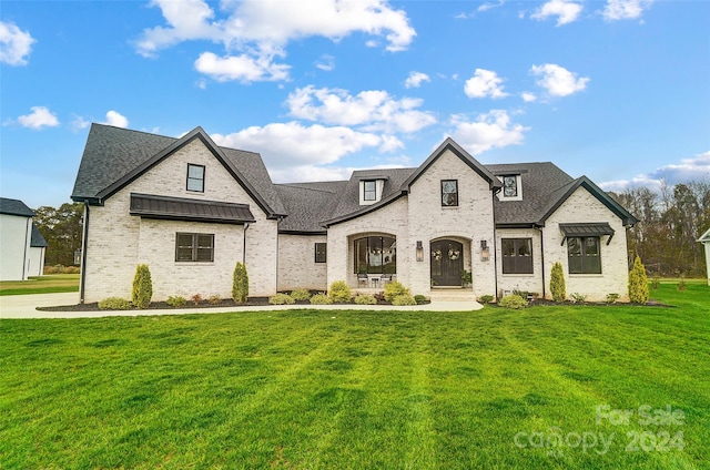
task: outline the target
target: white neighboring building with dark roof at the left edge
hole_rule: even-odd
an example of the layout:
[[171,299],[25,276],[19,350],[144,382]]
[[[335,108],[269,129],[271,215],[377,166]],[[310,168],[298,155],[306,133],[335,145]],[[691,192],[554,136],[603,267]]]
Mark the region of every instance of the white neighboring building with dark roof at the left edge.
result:
[[0,280],[42,275],[47,242],[32,216],[22,201],[0,197]]

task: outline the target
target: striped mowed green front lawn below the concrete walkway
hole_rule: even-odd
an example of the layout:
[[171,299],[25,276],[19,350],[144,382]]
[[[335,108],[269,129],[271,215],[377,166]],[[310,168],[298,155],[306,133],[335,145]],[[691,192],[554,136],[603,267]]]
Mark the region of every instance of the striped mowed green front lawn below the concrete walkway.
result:
[[710,288],[651,296],[1,320],[0,468],[708,468]]

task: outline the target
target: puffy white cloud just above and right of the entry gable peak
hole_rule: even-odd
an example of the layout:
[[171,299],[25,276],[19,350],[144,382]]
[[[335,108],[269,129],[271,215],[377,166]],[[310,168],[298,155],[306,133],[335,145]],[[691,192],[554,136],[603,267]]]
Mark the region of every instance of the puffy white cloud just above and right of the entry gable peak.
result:
[[480,154],[494,147],[521,144],[525,132],[530,130],[521,124],[511,123],[510,116],[503,110],[480,114],[474,122],[468,122],[462,116],[453,116],[452,123],[455,125],[452,137],[473,154]]

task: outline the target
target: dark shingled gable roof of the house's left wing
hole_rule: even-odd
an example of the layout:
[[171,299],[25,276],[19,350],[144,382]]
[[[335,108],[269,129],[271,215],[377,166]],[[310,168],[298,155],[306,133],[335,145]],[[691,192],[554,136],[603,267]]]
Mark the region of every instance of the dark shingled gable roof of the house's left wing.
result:
[[73,201],[102,204],[195,139],[202,141],[270,218],[285,215],[261,156],[253,152],[222,149],[202,127],[174,139],[92,124],[71,197]]

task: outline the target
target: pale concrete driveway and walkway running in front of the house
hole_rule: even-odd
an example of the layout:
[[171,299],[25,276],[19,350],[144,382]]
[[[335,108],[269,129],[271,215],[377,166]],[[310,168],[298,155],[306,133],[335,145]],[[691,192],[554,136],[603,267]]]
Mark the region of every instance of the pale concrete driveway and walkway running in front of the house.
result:
[[413,305],[409,307],[395,307],[389,305],[265,305],[248,307],[174,308],[169,310],[45,311],[37,309],[37,307],[57,307],[61,305],[75,305],[78,303],[79,294],[77,293],[2,296],[0,297],[0,319],[97,318],[113,316],[224,314],[230,311],[273,311],[293,309],[473,311],[483,308],[483,306],[477,302],[433,302],[427,305]]

